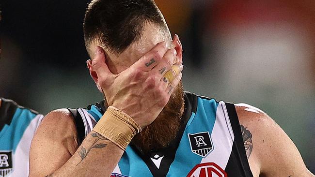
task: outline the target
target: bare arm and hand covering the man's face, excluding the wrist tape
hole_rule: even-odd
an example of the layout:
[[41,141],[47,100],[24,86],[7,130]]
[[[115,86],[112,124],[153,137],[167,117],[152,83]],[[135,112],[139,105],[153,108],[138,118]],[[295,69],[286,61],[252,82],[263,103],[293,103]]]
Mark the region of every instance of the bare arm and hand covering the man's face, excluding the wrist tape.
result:
[[[166,47],[166,43],[158,43],[139,60],[135,59],[135,63],[129,63],[120,74],[110,73],[101,49],[91,63],[91,75],[106,93],[110,105],[123,110],[142,127],[157,118],[173,93],[170,86],[175,88],[181,79],[181,73],[174,76],[172,83],[162,79],[164,73],[159,70],[166,67],[164,72],[170,71],[170,64],[177,63],[181,54]],[[155,62],[147,66],[151,59]],[[96,141],[100,145],[94,148]],[[68,110],[52,111],[43,119],[32,140],[30,177],[87,177],[91,174],[107,177],[123,152],[94,131],[78,147],[76,125]]]

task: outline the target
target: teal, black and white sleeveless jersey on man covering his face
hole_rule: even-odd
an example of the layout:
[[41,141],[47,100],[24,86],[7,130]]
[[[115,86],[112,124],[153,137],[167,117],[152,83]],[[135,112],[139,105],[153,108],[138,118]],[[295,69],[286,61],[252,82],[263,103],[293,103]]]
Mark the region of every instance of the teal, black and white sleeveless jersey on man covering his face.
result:
[[[184,98],[181,127],[170,145],[150,153],[128,145],[111,177],[252,177],[234,104],[189,92]],[[82,142],[106,108],[103,101],[69,110]]]

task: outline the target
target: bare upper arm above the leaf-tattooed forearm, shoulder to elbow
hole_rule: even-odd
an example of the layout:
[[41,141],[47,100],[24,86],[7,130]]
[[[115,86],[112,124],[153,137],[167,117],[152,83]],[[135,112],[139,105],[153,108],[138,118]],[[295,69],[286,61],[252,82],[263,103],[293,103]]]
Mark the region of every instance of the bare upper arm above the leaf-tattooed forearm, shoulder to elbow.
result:
[[77,148],[76,125],[68,111],[49,113],[31,143],[30,176],[46,176],[58,170]]

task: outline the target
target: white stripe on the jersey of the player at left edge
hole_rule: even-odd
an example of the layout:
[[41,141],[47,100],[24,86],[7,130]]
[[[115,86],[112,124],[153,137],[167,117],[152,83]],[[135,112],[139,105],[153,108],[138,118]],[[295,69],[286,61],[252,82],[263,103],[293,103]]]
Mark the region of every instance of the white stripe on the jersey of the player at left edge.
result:
[[29,176],[29,158],[31,140],[34,136],[39,123],[44,118],[43,115],[39,114],[33,118],[29,126],[25,129],[23,136],[16,147],[14,152],[13,165],[14,169],[9,177],[28,177]]

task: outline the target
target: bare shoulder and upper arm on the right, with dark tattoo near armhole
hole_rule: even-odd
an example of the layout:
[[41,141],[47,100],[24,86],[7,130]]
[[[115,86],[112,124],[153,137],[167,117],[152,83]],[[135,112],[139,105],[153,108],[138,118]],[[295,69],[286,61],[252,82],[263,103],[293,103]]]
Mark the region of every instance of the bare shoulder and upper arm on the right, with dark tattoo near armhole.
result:
[[243,140],[254,176],[314,177],[292,140],[263,111],[236,104]]

